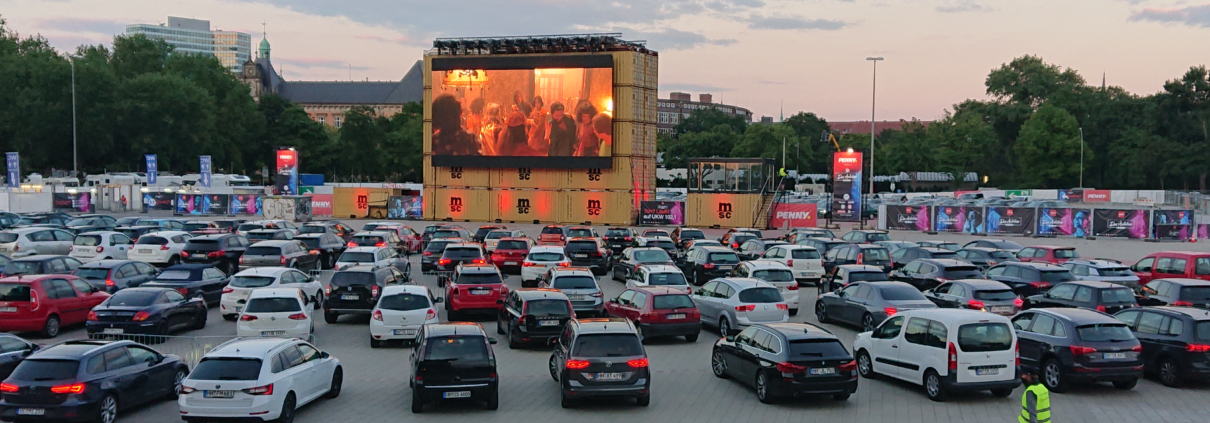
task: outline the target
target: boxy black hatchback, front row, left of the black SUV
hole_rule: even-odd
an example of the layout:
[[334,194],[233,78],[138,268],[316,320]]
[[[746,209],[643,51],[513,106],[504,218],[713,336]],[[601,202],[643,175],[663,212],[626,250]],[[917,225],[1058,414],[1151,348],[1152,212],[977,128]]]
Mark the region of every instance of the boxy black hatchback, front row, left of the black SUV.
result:
[[488,410],[500,407],[500,378],[496,354],[478,323],[424,325],[411,349],[411,412],[425,411],[425,402],[443,399],[484,401]]

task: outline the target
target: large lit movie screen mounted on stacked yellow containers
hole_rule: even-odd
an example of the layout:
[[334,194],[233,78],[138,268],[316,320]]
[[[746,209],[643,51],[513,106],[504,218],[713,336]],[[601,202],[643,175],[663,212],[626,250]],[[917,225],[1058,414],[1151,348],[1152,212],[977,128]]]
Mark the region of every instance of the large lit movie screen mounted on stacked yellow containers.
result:
[[432,59],[432,164],[610,168],[609,54]]

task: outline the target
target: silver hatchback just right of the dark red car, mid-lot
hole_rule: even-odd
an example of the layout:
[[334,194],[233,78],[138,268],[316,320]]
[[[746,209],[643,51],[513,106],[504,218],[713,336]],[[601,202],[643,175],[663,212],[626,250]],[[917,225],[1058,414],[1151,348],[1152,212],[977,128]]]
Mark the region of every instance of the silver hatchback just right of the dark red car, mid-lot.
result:
[[790,320],[790,306],[767,282],[753,278],[719,278],[693,291],[702,323],[719,328],[722,336],[760,323]]

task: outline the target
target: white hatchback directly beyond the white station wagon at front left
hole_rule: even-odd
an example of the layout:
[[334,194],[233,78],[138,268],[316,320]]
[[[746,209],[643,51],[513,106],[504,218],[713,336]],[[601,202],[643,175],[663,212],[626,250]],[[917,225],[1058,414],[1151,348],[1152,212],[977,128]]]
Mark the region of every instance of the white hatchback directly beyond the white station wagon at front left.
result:
[[252,290],[235,325],[235,335],[310,340],[315,334],[315,320],[311,319],[315,307],[307,296],[298,288]]

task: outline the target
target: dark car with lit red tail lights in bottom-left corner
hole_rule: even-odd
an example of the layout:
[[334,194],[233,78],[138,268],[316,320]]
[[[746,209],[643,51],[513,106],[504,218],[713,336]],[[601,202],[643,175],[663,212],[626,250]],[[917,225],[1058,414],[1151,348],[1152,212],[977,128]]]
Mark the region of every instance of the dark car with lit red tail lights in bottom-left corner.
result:
[[113,423],[121,410],[175,399],[186,376],[180,357],[139,343],[68,341],[17,365],[0,386],[0,418]]

